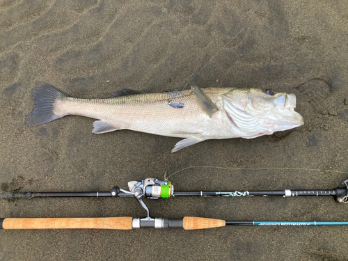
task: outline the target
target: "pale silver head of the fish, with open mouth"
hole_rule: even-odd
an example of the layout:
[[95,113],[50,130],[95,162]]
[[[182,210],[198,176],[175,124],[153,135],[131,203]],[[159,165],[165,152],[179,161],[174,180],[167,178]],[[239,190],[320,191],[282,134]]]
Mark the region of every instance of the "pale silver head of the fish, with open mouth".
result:
[[304,124],[301,114],[294,111],[296,96],[292,93],[235,88],[223,97],[229,120],[251,136],[272,134]]

